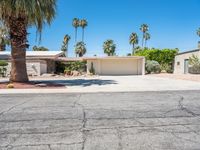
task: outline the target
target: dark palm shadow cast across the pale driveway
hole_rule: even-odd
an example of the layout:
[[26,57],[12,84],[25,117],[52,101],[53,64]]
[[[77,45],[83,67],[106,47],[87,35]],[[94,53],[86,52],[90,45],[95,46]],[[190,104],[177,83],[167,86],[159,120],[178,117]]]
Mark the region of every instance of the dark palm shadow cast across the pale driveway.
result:
[[36,83],[52,83],[52,84],[61,84],[64,86],[83,86],[83,87],[92,85],[117,84],[115,80],[100,80],[100,79],[51,80],[51,81],[36,81]]

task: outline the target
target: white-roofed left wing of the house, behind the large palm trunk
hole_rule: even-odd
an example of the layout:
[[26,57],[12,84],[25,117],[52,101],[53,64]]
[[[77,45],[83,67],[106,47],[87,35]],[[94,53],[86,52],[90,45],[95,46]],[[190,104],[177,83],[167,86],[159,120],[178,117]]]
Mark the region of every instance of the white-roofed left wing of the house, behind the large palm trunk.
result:
[[[29,76],[40,76],[44,73],[55,72],[55,62],[58,57],[63,56],[61,51],[27,51],[26,65]],[[10,51],[0,52],[0,60],[8,61],[8,75],[11,70]]]

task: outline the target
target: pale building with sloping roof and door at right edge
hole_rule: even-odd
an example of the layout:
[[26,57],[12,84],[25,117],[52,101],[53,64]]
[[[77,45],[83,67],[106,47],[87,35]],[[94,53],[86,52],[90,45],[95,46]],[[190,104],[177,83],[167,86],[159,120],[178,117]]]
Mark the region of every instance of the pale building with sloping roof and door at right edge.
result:
[[200,48],[182,52],[176,55],[174,63],[175,74],[187,74],[189,73],[189,58],[192,55],[200,56]]

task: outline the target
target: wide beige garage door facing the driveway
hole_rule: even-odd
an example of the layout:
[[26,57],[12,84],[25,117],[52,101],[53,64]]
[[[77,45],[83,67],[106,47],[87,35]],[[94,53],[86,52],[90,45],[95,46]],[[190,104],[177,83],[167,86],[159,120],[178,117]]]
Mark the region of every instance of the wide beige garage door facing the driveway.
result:
[[138,60],[101,60],[101,75],[137,75]]

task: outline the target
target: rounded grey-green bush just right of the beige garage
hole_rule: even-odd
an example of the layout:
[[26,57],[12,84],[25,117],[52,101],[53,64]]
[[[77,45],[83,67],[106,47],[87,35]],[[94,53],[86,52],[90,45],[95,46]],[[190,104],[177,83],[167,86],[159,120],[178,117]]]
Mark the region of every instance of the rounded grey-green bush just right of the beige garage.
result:
[[147,73],[160,73],[160,64],[154,60],[147,60],[146,61],[146,71]]

